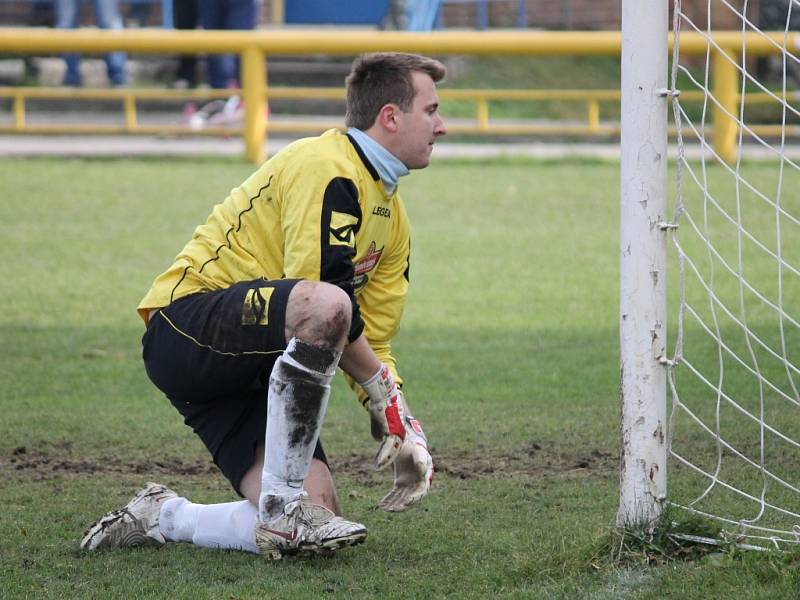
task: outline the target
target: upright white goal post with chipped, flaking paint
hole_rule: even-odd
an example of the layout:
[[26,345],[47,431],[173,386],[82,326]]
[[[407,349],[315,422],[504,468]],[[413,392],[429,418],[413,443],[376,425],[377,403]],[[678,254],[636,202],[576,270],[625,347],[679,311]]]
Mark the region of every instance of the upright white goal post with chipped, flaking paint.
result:
[[620,505],[617,523],[656,519],[667,490],[667,0],[622,2]]

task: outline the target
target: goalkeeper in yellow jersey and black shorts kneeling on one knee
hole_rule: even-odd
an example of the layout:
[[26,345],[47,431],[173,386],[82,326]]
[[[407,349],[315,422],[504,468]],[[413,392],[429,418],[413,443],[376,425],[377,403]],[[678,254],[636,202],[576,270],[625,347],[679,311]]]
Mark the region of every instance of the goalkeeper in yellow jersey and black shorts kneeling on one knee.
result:
[[398,179],[446,133],[436,60],[364,55],[347,77],[347,132],[290,144],[216,205],[138,311],[148,376],[244,500],[202,505],[150,483],[89,527],[81,547],[192,542],[309,555],[362,542],[344,519],[319,433],[340,367],[367,408],[380,501],[428,492],[433,463],[390,342],[408,289]]

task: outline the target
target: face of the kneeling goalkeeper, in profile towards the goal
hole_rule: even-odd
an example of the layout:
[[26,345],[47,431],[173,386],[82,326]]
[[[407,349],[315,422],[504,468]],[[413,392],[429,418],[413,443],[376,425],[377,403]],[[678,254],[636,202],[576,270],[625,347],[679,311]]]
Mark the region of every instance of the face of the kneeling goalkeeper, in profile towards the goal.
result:
[[409,169],[423,169],[431,160],[433,143],[447,129],[439,115],[439,97],[430,75],[414,71],[411,81],[414,101],[408,112],[396,113],[397,135],[391,151]]

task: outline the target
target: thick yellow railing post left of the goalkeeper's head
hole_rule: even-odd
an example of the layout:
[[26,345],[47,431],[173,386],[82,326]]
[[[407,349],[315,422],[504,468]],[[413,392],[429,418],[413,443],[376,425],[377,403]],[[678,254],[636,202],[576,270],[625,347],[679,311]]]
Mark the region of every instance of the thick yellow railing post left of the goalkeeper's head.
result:
[[252,163],[266,158],[267,61],[260,48],[242,51],[242,99],[244,100],[244,155]]

